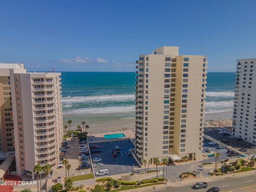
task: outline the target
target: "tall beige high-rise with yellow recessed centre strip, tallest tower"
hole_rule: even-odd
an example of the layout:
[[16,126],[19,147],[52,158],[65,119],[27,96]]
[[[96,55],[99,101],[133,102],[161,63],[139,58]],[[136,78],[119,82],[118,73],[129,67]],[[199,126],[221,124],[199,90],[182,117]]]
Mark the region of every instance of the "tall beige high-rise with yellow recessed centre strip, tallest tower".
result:
[[136,156],[202,157],[206,56],[163,46],[136,61]]

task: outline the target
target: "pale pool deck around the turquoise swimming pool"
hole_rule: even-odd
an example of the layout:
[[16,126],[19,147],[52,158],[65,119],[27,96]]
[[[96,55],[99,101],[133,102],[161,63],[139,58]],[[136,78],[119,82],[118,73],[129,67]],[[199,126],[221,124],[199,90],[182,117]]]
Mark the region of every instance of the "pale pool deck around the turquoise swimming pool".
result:
[[90,132],[88,133],[88,140],[91,141],[99,141],[99,140],[106,140],[108,141],[108,139],[104,138],[104,135],[111,135],[111,134],[120,134],[123,133],[125,135],[125,137],[121,137],[121,138],[135,138],[135,131],[132,130],[124,130],[124,131],[120,131],[120,130],[116,130],[115,132],[98,132],[97,134],[90,134]]

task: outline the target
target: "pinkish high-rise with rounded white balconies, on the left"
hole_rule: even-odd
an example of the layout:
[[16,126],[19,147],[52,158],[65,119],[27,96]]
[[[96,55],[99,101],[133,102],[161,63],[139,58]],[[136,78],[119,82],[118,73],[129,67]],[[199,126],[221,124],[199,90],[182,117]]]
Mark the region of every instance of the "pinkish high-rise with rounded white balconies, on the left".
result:
[[6,78],[11,87],[16,171],[20,175],[32,173],[34,179],[36,164],[58,167],[63,138],[60,73],[30,73],[22,65],[10,68]]

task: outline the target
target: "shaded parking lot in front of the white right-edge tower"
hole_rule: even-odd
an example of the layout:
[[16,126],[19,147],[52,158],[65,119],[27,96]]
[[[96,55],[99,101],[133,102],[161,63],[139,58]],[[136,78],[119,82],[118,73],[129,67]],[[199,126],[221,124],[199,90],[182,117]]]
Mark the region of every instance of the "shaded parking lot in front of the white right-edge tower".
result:
[[252,148],[252,146],[255,146],[255,145],[253,145],[249,142],[246,142],[246,141],[236,141],[234,138],[229,138],[230,135],[224,136],[223,134],[219,134],[219,130],[205,130],[204,134],[207,136],[210,136],[218,141],[220,141],[222,139],[229,140],[230,143],[227,145],[231,146],[237,150],[239,150],[240,148],[246,148],[247,152],[244,152],[244,153],[247,155],[256,154],[256,148]]

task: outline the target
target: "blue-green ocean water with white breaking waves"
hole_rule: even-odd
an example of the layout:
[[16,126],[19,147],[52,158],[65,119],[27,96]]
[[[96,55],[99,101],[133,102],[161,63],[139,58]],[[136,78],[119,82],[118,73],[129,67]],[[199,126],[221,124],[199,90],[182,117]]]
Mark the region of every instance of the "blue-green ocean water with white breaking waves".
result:
[[[208,72],[206,113],[232,110],[235,72]],[[113,122],[134,118],[134,72],[62,72],[66,116]],[[95,124],[95,123],[93,123]]]

